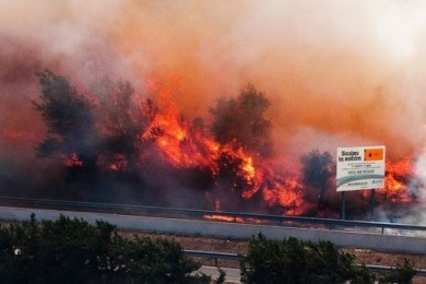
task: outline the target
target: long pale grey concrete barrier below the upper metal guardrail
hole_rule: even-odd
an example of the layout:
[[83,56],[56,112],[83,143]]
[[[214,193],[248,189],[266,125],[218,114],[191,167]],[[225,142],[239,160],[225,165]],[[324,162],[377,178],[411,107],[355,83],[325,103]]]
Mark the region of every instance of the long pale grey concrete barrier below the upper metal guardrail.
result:
[[193,221],[0,206],[1,220],[28,221],[32,213],[36,215],[37,220],[56,220],[60,214],[62,214],[72,218],[83,218],[91,224],[95,224],[96,221],[102,220],[116,225],[120,229],[131,229],[146,233],[155,232],[237,239],[249,239],[253,235],[262,233],[267,238],[277,240],[293,236],[301,240],[310,240],[313,242],[318,242],[319,240],[330,240],[339,247],[346,248],[374,249],[419,255],[426,253],[426,238],[423,237],[379,235],[331,229],[293,228],[259,224],[239,224],[213,221]]

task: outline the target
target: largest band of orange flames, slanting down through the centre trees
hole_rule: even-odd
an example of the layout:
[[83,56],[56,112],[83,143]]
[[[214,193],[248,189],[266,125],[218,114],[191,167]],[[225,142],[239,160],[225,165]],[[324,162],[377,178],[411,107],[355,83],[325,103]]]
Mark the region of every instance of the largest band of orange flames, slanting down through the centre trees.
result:
[[[209,168],[213,178],[222,171],[229,171],[235,178],[229,191],[240,192],[244,200],[253,199],[260,192],[260,202],[267,206],[282,208],[282,214],[301,215],[310,208],[309,202],[304,200],[303,186],[296,178],[276,175],[273,163],[257,159],[240,145],[217,143],[208,131],[194,128],[180,117],[171,92],[161,92],[158,85],[152,82],[151,85],[155,86],[161,108],[141,135],[147,138],[154,129],[161,129],[155,143],[171,165],[177,168]],[[220,201],[215,200],[215,204],[220,211]],[[208,218],[228,220],[226,216]]]

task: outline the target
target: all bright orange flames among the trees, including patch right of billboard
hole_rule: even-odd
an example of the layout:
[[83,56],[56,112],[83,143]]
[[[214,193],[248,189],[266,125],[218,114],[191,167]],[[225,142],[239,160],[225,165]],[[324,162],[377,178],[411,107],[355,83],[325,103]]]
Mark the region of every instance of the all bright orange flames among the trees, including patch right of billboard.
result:
[[[155,104],[158,113],[151,125],[140,137],[143,141],[154,141],[158,153],[176,168],[206,168],[213,178],[221,175],[223,168],[229,166],[230,175],[235,180],[230,188],[242,200],[256,200],[274,212],[285,215],[304,215],[317,208],[306,198],[306,187],[299,181],[299,173],[285,170],[277,173],[277,165],[271,158],[259,158],[253,153],[245,151],[235,143],[221,144],[216,142],[202,127],[186,120],[173,99],[171,91],[161,91],[154,81],[150,88],[156,94]],[[12,137],[13,132],[10,132]],[[225,156],[225,162],[221,159]],[[69,167],[83,166],[83,161],[76,153],[62,157]],[[125,170],[129,162],[125,155],[116,154],[113,157],[102,157],[98,163],[111,171]],[[226,165],[226,163],[230,165]],[[222,163],[222,164],[221,164]],[[289,163],[289,162],[288,162]],[[225,164],[225,165],[223,165]],[[384,188],[378,190],[378,199],[392,203],[413,201],[409,190],[409,181],[413,176],[412,161],[401,159],[386,165]],[[238,190],[235,190],[237,189]],[[234,192],[234,193],[235,193]],[[362,191],[360,194],[366,194]],[[212,194],[214,197],[214,194]],[[217,197],[220,199],[220,197]],[[221,211],[221,202],[211,200],[215,210]],[[320,214],[320,213],[318,213]],[[327,213],[329,214],[329,213]],[[333,214],[333,212],[331,212]],[[210,220],[242,222],[227,216],[205,216]],[[230,220],[232,218],[232,220]]]

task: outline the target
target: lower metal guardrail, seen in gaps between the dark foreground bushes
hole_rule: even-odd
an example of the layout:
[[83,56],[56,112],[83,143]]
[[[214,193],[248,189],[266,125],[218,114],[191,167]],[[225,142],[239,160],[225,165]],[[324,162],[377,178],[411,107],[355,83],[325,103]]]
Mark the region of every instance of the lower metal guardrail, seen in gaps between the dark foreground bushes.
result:
[[[238,255],[238,253],[203,251],[203,250],[184,250],[184,252],[188,256],[191,256],[191,257],[214,259],[214,264],[216,267],[217,267],[218,259],[228,259],[228,260],[239,261],[245,257],[245,256]],[[362,264],[359,264],[359,265],[362,265]],[[365,264],[365,267],[372,272],[380,272],[380,273],[390,273],[397,269],[394,267],[372,265],[372,264]],[[424,269],[416,269],[415,272],[416,272],[417,276],[426,276],[426,270],[424,270]]]

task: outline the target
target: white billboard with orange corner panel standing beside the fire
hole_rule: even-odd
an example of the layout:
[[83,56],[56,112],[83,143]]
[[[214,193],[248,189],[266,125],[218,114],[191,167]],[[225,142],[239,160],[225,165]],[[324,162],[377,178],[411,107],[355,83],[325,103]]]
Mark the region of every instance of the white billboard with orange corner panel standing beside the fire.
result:
[[384,187],[384,146],[338,147],[338,191]]

